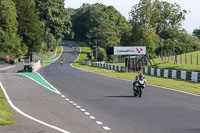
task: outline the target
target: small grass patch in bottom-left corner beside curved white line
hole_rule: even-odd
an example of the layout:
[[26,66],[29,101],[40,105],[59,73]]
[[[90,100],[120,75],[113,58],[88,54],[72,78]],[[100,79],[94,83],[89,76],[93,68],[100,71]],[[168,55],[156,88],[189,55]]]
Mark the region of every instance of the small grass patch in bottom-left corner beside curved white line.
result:
[[2,89],[0,88],[0,125],[13,125],[15,124],[14,116],[12,115],[10,106],[8,105]]

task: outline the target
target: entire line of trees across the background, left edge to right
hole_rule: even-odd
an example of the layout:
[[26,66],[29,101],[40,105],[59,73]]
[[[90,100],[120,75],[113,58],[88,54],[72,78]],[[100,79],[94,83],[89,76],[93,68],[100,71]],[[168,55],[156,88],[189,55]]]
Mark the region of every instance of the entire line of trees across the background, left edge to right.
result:
[[[200,29],[182,28],[188,13],[176,3],[140,0],[127,20],[113,6],[83,4],[64,8],[64,0],[0,0],[0,52],[14,56],[54,50],[62,39],[97,45],[98,60],[111,46],[146,46],[149,55],[200,50]],[[94,54],[96,55],[96,54]]]

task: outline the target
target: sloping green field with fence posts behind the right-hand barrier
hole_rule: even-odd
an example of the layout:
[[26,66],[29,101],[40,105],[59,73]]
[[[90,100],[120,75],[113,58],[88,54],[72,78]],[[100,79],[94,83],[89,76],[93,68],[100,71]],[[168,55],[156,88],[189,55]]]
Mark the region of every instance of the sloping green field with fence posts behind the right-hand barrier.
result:
[[[192,55],[192,60],[191,60]],[[197,55],[198,55],[198,65],[197,65]],[[182,62],[181,62],[182,59]],[[187,59],[187,62],[186,62]],[[176,69],[176,70],[186,70],[186,71],[197,71],[200,72],[200,51],[191,52],[187,54],[182,54],[177,56],[177,64],[174,64],[175,57],[166,57],[163,60],[161,58],[154,59],[155,66],[157,68],[165,69]],[[191,64],[192,61],[192,64]],[[187,64],[186,64],[187,63]],[[150,67],[150,65],[148,65]]]

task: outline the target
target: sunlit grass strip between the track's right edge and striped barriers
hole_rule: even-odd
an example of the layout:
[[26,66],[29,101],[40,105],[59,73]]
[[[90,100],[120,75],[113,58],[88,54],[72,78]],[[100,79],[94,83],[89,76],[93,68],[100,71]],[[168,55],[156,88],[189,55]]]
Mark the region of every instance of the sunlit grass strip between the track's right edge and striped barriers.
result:
[[[80,44],[80,42],[76,44]],[[137,72],[122,73],[122,72],[111,71],[111,70],[102,69],[102,68],[84,66],[82,65],[82,61],[88,60],[87,53],[90,52],[91,49],[86,44],[81,44],[80,47],[82,49],[80,58],[75,63],[73,63],[74,67],[77,67],[86,71],[90,71],[90,72],[105,74],[108,76],[121,78],[121,79],[127,79],[127,80],[133,80],[133,78],[138,74]],[[163,86],[163,87],[181,90],[185,92],[190,92],[193,94],[200,94],[200,83],[194,83],[194,82],[189,82],[189,81],[184,81],[184,80],[179,80],[179,79],[160,78],[160,77],[149,76],[149,75],[145,75],[145,77],[149,84]]]

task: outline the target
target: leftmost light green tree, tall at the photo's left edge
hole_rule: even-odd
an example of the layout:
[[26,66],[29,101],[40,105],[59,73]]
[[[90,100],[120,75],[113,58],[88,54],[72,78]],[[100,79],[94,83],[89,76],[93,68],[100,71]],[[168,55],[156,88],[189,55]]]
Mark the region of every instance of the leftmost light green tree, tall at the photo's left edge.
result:
[[16,18],[15,3],[12,0],[0,0],[0,51],[19,56],[26,50],[22,51]]

